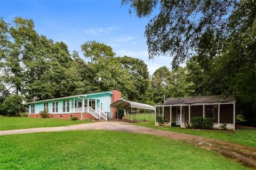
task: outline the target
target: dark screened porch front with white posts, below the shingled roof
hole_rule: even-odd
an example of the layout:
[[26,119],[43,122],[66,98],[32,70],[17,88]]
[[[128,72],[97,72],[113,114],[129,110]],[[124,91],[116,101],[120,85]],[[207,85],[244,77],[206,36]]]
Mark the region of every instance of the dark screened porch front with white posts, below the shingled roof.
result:
[[184,123],[190,123],[191,118],[207,117],[212,121],[213,129],[227,124],[227,129],[235,130],[235,103],[156,105],[155,113],[163,117],[165,126],[186,128]]

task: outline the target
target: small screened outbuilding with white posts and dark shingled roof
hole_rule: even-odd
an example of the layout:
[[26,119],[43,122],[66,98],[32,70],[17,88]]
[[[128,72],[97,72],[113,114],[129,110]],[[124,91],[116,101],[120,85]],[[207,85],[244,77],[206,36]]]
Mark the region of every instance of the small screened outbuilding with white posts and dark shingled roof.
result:
[[178,125],[181,128],[186,128],[184,123],[190,123],[193,117],[207,117],[212,121],[214,129],[227,124],[227,129],[235,130],[235,102],[233,96],[170,98],[163,104],[155,105],[155,117],[163,116],[165,125]]

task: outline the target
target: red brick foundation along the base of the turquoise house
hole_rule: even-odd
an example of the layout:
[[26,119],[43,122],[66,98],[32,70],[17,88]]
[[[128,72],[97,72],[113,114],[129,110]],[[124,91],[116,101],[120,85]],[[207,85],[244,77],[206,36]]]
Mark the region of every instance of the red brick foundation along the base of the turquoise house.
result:
[[[28,114],[29,117],[34,118],[41,118],[40,114],[33,113]],[[49,113],[49,118],[61,118],[61,119],[70,119],[70,117],[78,117],[79,120],[81,120],[81,113]],[[90,113],[83,113],[83,120],[85,119],[94,119],[95,117],[91,115]]]

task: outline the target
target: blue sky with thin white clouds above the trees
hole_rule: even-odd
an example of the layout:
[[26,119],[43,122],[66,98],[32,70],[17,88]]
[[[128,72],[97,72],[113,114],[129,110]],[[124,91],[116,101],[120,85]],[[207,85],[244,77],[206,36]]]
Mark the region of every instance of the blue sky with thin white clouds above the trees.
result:
[[[148,59],[145,26],[150,18],[128,13],[129,5],[116,1],[1,1],[0,16],[8,23],[21,16],[33,19],[35,29],[54,41],[63,41],[70,52],[80,51],[88,40],[110,45],[117,56],[141,58],[150,74],[170,67],[170,57]],[[82,56],[82,55],[81,55]]]

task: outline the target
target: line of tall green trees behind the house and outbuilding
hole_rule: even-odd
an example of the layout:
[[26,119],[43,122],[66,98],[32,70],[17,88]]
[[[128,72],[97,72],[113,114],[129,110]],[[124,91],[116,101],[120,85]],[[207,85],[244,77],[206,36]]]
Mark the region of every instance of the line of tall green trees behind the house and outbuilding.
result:
[[164,97],[233,94],[239,120],[256,123],[255,43],[243,55],[232,43],[219,57],[204,57],[205,51],[198,49],[186,67],[161,67],[150,76],[142,60],[116,56],[110,46],[96,41],[81,45],[84,60],[65,43],[39,35],[33,20],[15,18],[9,24],[1,19],[0,29],[2,114],[22,111],[22,101],[117,89],[125,99],[150,105]]

